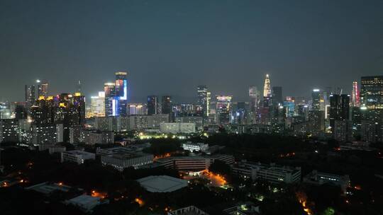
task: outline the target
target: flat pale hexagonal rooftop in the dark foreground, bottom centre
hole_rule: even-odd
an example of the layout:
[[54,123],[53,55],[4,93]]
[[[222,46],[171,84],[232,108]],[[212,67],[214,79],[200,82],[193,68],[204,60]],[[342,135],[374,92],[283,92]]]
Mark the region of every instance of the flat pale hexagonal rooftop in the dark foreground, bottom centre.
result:
[[173,192],[187,187],[188,181],[168,175],[152,175],[137,180],[149,192]]

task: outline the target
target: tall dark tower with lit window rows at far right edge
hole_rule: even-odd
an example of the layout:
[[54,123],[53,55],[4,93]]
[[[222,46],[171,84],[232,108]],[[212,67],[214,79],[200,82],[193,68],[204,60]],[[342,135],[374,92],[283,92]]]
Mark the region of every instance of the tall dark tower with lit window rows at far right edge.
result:
[[364,76],[360,81],[360,103],[367,108],[367,119],[383,118],[383,76]]

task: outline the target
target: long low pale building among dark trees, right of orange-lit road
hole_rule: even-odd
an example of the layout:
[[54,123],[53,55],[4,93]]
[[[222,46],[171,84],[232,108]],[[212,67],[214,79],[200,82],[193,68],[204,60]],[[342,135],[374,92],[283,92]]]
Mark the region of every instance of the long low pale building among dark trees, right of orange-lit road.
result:
[[252,180],[267,180],[269,182],[294,183],[301,181],[301,168],[276,165],[275,163],[263,164],[253,162],[240,162],[232,168],[234,175]]

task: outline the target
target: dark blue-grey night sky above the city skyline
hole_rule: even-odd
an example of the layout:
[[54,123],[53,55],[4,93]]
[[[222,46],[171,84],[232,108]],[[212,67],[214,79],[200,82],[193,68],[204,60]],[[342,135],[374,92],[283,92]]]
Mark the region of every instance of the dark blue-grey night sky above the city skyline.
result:
[[196,86],[247,100],[265,74],[286,95],[383,74],[383,1],[0,0],[0,100],[50,93],[96,95],[130,72],[133,101],[192,101]]

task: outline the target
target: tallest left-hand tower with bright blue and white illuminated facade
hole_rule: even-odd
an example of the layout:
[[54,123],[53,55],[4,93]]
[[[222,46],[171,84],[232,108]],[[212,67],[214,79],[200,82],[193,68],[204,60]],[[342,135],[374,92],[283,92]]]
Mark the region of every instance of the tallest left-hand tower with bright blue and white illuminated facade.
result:
[[128,105],[128,73],[126,71],[116,72],[116,115],[126,116],[126,105]]

